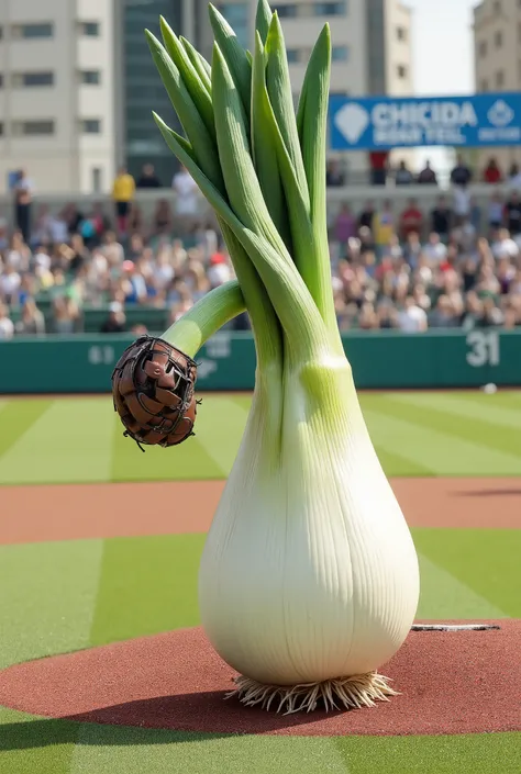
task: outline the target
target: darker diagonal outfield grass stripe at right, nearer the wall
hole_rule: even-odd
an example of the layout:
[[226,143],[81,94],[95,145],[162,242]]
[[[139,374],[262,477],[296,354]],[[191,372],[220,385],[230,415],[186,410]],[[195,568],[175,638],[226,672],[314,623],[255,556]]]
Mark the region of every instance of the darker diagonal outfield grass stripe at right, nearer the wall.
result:
[[[508,417],[505,417],[505,424],[498,425],[488,419],[485,406],[481,408],[481,417],[474,412],[468,416],[465,415],[465,410],[461,413],[454,410],[444,411],[439,401],[423,402],[421,399],[421,395],[413,395],[412,400],[406,401],[403,395],[393,395],[385,402],[386,414],[414,422],[454,438],[463,438],[486,449],[519,457],[518,472],[521,473],[521,441],[517,433],[517,427],[521,427],[521,414],[517,416],[518,425],[510,425],[510,431],[508,431],[505,429]],[[472,408],[472,404],[469,407]]]

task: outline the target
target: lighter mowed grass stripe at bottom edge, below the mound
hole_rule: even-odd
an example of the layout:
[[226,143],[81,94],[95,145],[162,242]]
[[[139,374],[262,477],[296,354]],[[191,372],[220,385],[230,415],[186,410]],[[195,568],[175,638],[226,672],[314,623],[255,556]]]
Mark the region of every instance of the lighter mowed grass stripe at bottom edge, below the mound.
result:
[[85,725],[70,774],[348,774],[334,737],[189,734]]

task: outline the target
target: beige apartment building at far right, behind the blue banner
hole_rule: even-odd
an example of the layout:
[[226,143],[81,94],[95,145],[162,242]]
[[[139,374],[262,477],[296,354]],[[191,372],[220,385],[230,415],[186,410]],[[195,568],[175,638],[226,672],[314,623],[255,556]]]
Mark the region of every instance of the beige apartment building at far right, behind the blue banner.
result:
[[[521,0],[484,0],[474,9],[476,91],[521,89]],[[503,170],[521,165],[521,148],[485,148],[476,153],[479,168],[490,156]]]

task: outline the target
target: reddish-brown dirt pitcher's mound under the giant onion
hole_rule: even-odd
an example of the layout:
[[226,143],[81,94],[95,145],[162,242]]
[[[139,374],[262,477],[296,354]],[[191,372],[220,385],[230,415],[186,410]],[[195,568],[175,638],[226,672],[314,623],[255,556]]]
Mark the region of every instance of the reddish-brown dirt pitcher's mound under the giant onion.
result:
[[224,700],[234,672],[201,629],[180,629],[11,666],[0,705],[34,715],[213,733],[298,736],[521,730],[521,621],[411,632],[383,669],[401,693],[368,709],[280,716]]

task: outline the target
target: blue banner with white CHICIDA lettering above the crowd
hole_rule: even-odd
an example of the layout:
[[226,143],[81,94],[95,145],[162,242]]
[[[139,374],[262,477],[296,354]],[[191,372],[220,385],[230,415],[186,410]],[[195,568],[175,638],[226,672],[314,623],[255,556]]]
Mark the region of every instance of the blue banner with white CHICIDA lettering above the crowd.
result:
[[330,98],[332,150],[521,143],[521,92],[469,97]]

